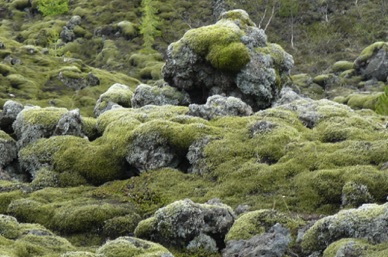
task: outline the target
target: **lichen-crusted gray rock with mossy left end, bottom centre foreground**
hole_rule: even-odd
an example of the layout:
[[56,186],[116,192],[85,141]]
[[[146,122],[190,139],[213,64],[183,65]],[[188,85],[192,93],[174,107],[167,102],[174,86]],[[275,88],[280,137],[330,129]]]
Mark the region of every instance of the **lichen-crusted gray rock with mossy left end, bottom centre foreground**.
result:
[[[164,245],[186,248],[203,234],[203,239],[207,238],[204,235],[211,237],[220,249],[234,219],[233,210],[227,205],[198,204],[186,199],[169,204],[157,210],[151,218],[141,221],[135,235]],[[211,245],[209,238],[205,241],[205,245]]]

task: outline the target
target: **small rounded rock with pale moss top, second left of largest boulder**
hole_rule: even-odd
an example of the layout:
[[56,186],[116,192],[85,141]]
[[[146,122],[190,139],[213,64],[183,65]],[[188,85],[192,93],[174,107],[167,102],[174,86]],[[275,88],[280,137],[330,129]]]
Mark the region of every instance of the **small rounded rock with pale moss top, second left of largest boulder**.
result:
[[98,98],[94,107],[94,116],[98,117],[102,113],[115,108],[116,105],[131,107],[132,97],[133,92],[128,86],[115,83]]

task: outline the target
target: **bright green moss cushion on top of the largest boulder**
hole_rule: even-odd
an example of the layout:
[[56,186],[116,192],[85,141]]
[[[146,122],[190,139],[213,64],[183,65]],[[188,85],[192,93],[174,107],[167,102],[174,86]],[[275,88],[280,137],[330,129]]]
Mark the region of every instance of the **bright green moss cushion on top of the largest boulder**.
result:
[[234,23],[200,27],[186,32],[174,47],[188,44],[214,68],[237,72],[250,61],[248,49],[240,42],[243,33]]

